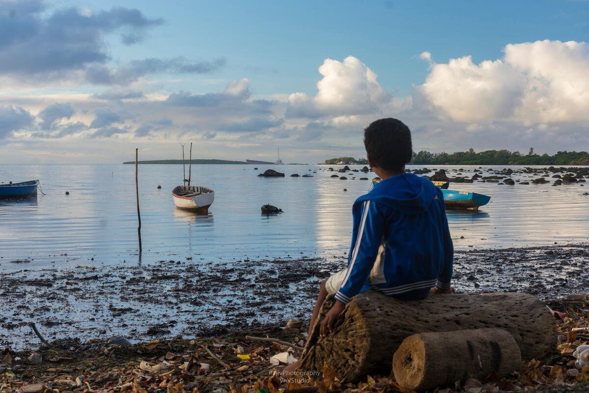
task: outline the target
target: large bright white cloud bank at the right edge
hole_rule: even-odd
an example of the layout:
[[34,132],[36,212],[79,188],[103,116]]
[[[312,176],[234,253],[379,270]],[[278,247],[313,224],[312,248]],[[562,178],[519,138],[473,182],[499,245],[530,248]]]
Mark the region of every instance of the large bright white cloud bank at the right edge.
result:
[[[502,60],[470,56],[432,63],[422,91],[442,117],[472,123],[589,120],[589,45],[536,41],[509,44]],[[424,54],[421,58],[426,58]]]

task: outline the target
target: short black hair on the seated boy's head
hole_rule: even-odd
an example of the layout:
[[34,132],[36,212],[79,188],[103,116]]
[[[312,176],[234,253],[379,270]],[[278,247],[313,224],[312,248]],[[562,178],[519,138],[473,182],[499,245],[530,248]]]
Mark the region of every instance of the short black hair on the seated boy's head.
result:
[[364,130],[364,146],[370,161],[386,170],[401,169],[411,161],[411,131],[401,120],[382,118]]

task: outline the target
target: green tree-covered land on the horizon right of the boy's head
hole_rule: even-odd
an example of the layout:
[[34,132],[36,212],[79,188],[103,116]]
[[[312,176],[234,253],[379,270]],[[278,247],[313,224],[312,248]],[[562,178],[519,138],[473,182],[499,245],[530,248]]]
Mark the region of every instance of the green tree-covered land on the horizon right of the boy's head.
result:
[[[327,161],[326,161],[327,162]],[[430,153],[429,151],[413,152],[411,164],[429,165],[589,165],[589,153],[587,151],[558,151],[554,156],[548,153],[534,153],[531,147],[528,154],[524,155],[519,151],[509,150],[485,150],[475,153],[469,148],[468,151],[456,151],[448,154]]]

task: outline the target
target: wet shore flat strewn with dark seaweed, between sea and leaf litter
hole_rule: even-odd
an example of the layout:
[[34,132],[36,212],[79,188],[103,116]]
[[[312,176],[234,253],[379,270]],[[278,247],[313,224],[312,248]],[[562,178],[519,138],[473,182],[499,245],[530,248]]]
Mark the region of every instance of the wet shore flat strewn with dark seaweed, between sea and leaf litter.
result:
[[[29,270],[0,274],[0,345],[49,341],[217,336],[256,326],[307,321],[321,280],[344,258],[221,262],[184,257],[158,265]],[[458,292],[525,292],[542,300],[587,293],[589,243],[455,252]]]

